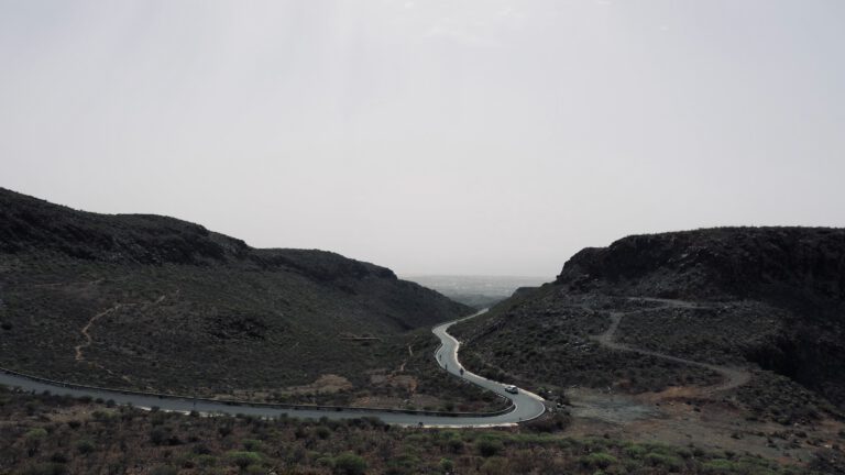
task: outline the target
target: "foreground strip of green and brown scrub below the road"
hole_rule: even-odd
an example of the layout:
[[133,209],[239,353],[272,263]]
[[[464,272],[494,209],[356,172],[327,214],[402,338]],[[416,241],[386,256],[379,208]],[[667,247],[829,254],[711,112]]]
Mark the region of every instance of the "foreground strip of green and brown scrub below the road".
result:
[[[0,473],[14,474],[822,474],[696,446],[572,439],[566,424],[403,429],[347,421],[198,417],[0,389]],[[833,465],[835,466],[835,465]]]

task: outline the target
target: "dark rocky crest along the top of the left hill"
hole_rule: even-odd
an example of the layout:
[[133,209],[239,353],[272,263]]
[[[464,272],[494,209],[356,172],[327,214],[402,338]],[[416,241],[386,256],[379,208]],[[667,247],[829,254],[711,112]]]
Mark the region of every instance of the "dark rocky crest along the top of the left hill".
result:
[[0,252],[55,251],[122,264],[241,265],[299,272],[316,280],[373,276],[388,268],[318,250],[252,248],[199,224],[155,214],[99,214],[0,188]]

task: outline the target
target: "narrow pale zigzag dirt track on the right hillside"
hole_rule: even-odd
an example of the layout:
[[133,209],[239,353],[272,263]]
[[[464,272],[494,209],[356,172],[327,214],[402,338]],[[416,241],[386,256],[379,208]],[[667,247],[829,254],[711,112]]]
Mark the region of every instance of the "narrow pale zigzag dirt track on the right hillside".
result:
[[683,300],[669,300],[669,299],[657,299],[657,298],[632,298],[630,300],[661,302],[663,303],[663,306],[649,308],[649,309],[634,310],[629,312],[611,312],[611,327],[607,328],[607,330],[604,333],[592,336],[593,340],[599,342],[599,344],[601,344],[602,346],[608,347],[611,350],[628,351],[633,353],[639,353],[648,356],[659,357],[661,360],[667,360],[676,363],[687,364],[690,366],[699,366],[699,367],[703,367],[703,368],[716,372],[720,375],[722,375],[723,377],[722,383],[701,388],[700,391],[702,394],[726,391],[728,389],[733,389],[735,387],[738,387],[748,383],[748,380],[751,378],[751,374],[742,368],[696,362],[692,360],[672,356],[665,353],[655,352],[651,350],[638,349],[638,347],[615,342],[613,339],[616,334],[616,330],[619,328],[619,322],[622,322],[622,319],[627,314],[648,312],[648,311],[655,311],[655,310],[665,310],[667,308],[685,308],[685,309],[712,308],[709,306],[702,306],[695,302],[683,301]]

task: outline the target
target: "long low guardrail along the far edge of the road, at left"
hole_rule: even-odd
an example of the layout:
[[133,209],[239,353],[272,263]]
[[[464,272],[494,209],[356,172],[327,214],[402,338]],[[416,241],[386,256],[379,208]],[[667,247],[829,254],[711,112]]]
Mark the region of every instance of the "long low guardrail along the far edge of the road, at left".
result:
[[0,372],[11,376],[19,377],[19,378],[30,379],[35,383],[42,383],[51,386],[57,386],[57,387],[63,387],[68,389],[76,389],[76,390],[92,390],[92,391],[107,393],[107,394],[108,393],[121,394],[127,396],[143,396],[143,397],[152,397],[152,398],[158,398],[158,399],[178,399],[184,401],[202,401],[202,402],[220,404],[224,406],[242,406],[242,407],[255,407],[255,408],[272,408],[272,409],[288,409],[288,410],[318,410],[318,411],[326,411],[326,412],[341,412],[341,411],[353,411],[353,412],[362,412],[362,413],[393,412],[393,413],[408,413],[408,415],[418,415],[418,416],[441,416],[441,417],[456,417],[456,418],[458,417],[482,417],[482,418],[495,417],[495,416],[502,416],[502,415],[508,413],[516,408],[513,401],[504,409],[500,409],[497,411],[489,411],[489,412],[449,412],[449,411],[431,411],[431,410],[416,410],[416,409],[370,408],[370,407],[360,407],[360,406],[322,406],[322,405],[295,405],[295,404],[279,404],[279,402],[255,402],[255,401],[242,401],[242,400],[235,400],[235,399],[211,399],[211,398],[204,398],[204,397],[169,395],[164,393],[138,391],[138,390],[129,390],[129,389],[113,389],[113,388],[105,388],[99,386],[88,386],[88,385],[80,385],[75,383],[67,383],[67,382],[59,382],[55,379],[43,378],[40,376],[33,376],[25,373],[15,372],[13,369],[8,369],[4,367],[0,367]]

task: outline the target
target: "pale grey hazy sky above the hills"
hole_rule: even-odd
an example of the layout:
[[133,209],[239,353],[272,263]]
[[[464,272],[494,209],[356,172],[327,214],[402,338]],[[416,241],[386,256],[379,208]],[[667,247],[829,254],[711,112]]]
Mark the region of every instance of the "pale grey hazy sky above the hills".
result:
[[399,274],[845,225],[845,1],[0,0],[0,186]]

